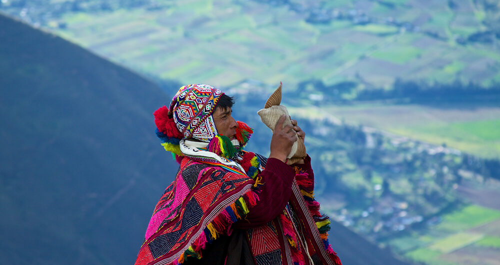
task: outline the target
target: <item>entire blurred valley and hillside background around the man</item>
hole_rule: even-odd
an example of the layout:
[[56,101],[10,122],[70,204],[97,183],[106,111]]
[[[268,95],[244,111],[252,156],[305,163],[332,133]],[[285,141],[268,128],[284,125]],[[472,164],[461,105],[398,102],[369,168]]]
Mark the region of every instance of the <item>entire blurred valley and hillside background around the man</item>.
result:
[[344,264],[500,264],[497,0],[1,0],[0,263],[130,264],[183,84],[283,82]]

